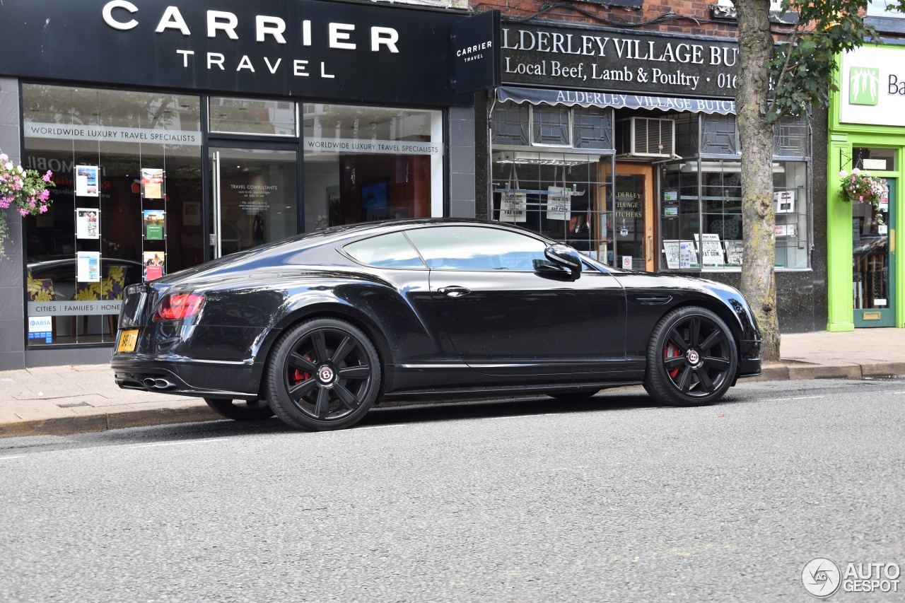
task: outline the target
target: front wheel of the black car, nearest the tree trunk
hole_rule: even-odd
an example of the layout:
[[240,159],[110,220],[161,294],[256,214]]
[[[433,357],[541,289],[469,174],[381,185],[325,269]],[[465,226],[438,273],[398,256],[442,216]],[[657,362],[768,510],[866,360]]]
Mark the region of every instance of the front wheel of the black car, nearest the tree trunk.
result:
[[726,323],[705,308],[680,308],[653,329],[644,388],[676,407],[712,404],[732,385],[737,367],[738,349]]

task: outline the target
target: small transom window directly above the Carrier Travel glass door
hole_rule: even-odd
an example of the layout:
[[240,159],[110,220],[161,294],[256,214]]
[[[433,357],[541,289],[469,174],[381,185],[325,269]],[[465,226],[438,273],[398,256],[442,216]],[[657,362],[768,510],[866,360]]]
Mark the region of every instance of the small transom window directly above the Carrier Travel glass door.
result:
[[299,135],[296,103],[211,97],[210,129],[223,134]]

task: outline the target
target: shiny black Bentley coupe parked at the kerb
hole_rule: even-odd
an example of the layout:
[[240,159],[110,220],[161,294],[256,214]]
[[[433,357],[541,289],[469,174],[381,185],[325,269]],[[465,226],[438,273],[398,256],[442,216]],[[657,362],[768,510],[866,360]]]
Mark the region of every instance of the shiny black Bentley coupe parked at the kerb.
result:
[[456,219],[338,226],[129,285],[118,341],[121,388],[315,430],[380,399],[643,384],[662,403],[710,404],[760,373],[735,289]]

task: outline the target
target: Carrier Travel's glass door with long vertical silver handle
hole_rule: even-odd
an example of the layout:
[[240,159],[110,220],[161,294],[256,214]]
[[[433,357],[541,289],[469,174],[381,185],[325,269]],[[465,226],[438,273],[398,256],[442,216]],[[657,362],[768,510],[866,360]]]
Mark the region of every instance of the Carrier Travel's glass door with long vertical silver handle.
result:
[[212,147],[210,159],[214,257],[298,233],[296,151]]

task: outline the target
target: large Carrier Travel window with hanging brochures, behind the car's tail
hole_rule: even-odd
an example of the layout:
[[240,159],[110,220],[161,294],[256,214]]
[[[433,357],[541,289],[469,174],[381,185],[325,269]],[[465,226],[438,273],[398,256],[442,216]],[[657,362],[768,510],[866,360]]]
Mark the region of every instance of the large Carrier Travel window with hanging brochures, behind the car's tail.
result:
[[112,342],[126,285],[204,261],[201,99],[23,85],[24,167],[53,172],[24,219],[29,345]]

